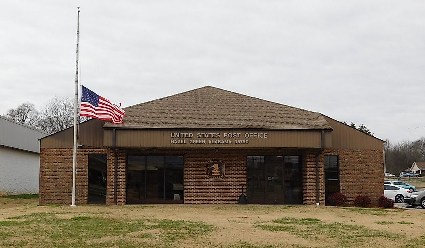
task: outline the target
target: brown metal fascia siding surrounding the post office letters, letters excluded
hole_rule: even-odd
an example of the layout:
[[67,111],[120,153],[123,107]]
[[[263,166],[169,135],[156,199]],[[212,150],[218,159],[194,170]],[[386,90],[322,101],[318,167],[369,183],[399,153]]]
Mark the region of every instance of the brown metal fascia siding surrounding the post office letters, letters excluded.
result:
[[[172,138],[171,134],[192,133],[192,138]],[[219,133],[220,138],[197,138],[197,133]],[[240,133],[240,138],[225,138],[224,133]],[[268,138],[245,138],[245,133],[267,133]],[[118,147],[282,147],[320,148],[321,131],[251,131],[251,130],[116,130]],[[185,144],[171,143],[184,140]],[[190,143],[190,140],[205,140],[205,144]],[[230,140],[231,144],[208,143],[215,140]],[[248,140],[248,144],[236,144],[236,140]],[[112,130],[104,131],[104,146],[112,146]],[[325,148],[332,147],[332,134],[325,131]]]

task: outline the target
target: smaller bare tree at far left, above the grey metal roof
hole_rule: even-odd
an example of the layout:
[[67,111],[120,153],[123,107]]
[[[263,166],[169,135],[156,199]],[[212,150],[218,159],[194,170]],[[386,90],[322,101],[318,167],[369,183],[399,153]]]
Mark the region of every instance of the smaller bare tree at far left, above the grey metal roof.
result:
[[6,116],[19,123],[35,127],[40,114],[35,109],[34,104],[26,102],[16,107],[16,109],[9,109]]

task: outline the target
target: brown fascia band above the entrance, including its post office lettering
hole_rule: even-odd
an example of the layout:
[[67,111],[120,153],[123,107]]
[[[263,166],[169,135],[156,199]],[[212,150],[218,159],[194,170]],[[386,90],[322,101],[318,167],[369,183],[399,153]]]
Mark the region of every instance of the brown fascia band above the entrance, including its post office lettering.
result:
[[[104,146],[112,146],[112,130],[104,131]],[[116,130],[120,147],[199,148],[321,148],[321,130]],[[332,147],[332,132],[325,131],[325,148]]]

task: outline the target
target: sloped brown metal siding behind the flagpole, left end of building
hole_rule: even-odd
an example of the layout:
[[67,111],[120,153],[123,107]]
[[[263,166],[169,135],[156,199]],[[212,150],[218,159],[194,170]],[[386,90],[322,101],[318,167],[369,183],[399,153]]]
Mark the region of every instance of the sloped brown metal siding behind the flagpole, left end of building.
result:
[[[79,125],[78,144],[91,147],[102,147],[103,125],[105,121],[91,119]],[[72,148],[74,128],[68,128],[58,133],[47,136],[40,141],[41,148]]]

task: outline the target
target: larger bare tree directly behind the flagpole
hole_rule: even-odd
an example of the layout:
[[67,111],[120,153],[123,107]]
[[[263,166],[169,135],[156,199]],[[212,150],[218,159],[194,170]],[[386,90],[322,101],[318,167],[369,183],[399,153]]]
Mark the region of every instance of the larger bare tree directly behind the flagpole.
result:
[[[90,118],[80,117],[79,122]],[[41,111],[37,126],[48,133],[59,132],[74,125],[74,101],[69,97],[54,97]]]

